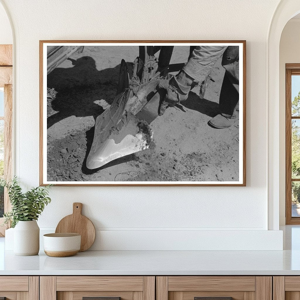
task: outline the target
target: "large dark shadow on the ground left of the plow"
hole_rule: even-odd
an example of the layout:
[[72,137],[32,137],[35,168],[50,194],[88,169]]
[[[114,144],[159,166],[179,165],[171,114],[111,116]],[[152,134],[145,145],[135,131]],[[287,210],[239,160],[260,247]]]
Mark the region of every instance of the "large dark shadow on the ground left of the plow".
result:
[[[47,88],[57,91],[55,99],[47,104],[56,111],[47,116],[47,128],[70,116],[96,119],[104,109],[94,101],[105,99],[111,104],[116,96],[120,65],[98,71],[95,60],[89,56],[72,63],[74,67],[55,68],[47,76]],[[132,63],[127,64],[132,72]]]

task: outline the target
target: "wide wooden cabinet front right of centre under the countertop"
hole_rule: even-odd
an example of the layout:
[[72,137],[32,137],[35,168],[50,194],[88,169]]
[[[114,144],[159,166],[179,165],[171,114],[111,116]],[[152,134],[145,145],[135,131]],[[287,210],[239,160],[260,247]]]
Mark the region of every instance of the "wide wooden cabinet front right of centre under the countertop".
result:
[[272,300],[272,278],[158,276],[156,300]]

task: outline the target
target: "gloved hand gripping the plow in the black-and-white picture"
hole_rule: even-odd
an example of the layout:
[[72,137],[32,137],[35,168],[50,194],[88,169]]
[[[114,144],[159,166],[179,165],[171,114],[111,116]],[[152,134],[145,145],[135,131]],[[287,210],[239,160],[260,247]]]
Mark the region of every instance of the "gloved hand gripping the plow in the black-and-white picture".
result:
[[180,71],[179,74],[170,79],[161,80],[156,88],[165,89],[167,93],[161,103],[159,115],[162,116],[167,107],[174,107],[176,104],[179,104],[180,101],[186,100],[192,84],[193,78],[184,71]]

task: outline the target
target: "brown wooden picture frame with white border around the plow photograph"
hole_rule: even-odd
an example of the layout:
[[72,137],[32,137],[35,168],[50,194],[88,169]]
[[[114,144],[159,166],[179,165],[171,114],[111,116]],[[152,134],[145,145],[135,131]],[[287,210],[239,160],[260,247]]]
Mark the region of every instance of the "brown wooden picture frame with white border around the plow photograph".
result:
[[[71,61],[71,63],[75,65],[77,63],[76,59],[74,59],[70,56],[76,54],[77,56],[76,55],[75,56],[77,58],[79,55],[79,54],[77,54],[77,52],[82,51],[83,47],[86,47],[86,46],[120,46],[120,45],[121,46],[123,46],[123,45],[124,46],[127,46],[127,45],[140,46],[140,47],[143,46],[146,49],[144,51],[144,54],[146,52],[147,52],[146,54],[148,54],[149,47],[153,46],[153,49],[151,50],[152,55],[154,55],[153,53],[155,53],[155,51],[157,51],[157,47],[160,47],[159,49],[161,49],[162,46],[166,46],[166,47],[172,47],[174,45],[175,46],[190,46],[190,49],[191,49],[191,46],[194,46],[194,48],[195,48],[195,46],[197,46],[197,45],[198,46],[221,45],[223,47],[239,46],[238,49],[239,49],[239,58],[240,59],[239,59],[238,65],[240,65],[242,67],[240,68],[240,71],[238,73],[239,74],[238,75],[239,84],[237,84],[237,85],[241,85],[242,88],[240,89],[239,96],[238,96],[239,101],[240,101],[239,113],[238,113],[239,118],[237,121],[238,122],[238,158],[239,159],[238,159],[238,168],[236,169],[236,170],[238,170],[238,172],[235,172],[235,173],[238,173],[236,178],[234,178],[232,176],[232,179],[230,178],[229,181],[220,181],[216,175],[216,179],[214,179],[214,181],[212,181],[212,180],[210,180],[210,181],[193,181],[193,179],[191,179],[189,181],[181,180],[181,181],[168,181],[168,182],[165,182],[165,181],[152,182],[152,181],[147,181],[147,180],[141,181],[141,182],[140,181],[139,182],[125,181],[125,180],[93,181],[93,180],[88,180],[88,179],[86,181],[82,181],[85,179],[82,179],[81,177],[80,178],[77,177],[79,179],[78,181],[77,181],[77,179],[76,179],[76,181],[69,181],[69,179],[59,180],[59,181],[52,180],[53,179],[52,175],[50,176],[47,173],[47,161],[46,161],[46,157],[47,157],[46,124],[47,124],[47,122],[45,119],[46,119],[46,115],[47,115],[46,106],[47,105],[49,106],[49,103],[46,105],[46,103],[47,103],[47,90],[46,89],[51,88],[50,86],[47,87],[46,85],[47,85],[47,78],[49,78],[49,74],[51,74],[51,76],[52,76],[51,78],[53,78],[55,76],[55,75],[52,75],[54,72],[53,70],[57,70],[58,65],[62,61],[64,61],[64,59],[68,59],[68,62],[67,62],[68,64],[70,64],[69,61]],[[49,52],[48,49],[50,49],[50,48],[47,49],[46,48],[47,46],[52,46],[52,47],[56,47],[56,48],[49,50],[50,51]],[[65,48],[64,53],[62,53],[61,55],[57,55],[57,58],[54,61],[52,60],[50,63],[49,57],[55,51],[58,51],[58,49],[61,49],[61,47],[63,47],[63,46],[66,46],[68,49]],[[75,49],[75,47],[76,47],[76,49]],[[48,53],[47,53],[47,51],[48,51]],[[172,51],[171,51],[171,53],[172,53]],[[190,55],[191,55],[191,50],[190,50]],[[47,56],[48,56],[48,60],[47,60]],[[132,57],[132,61],[134,60],[134,58],[135,57]],[[86,59],[88,60],[88,58],[86,58]],[[139,61],[140,60],[141,59],[139,58]],[[159,60],[160,60],[160,58],[159,58]],[[121,59],[120,59],[120,61],[121,61]],[[187,61],[187,59],[186,59],[186,61]],[[164,65],[164,68],[160,69],[161,70],[160,74],[162,74],[163,72],[164,72],[164,74],[167,74],[168,72],[171,72],[171,71],[179,71],[183,67],[183,65],[186,63],[186,61],[178,62],[175,64],[170,64],[170,60],[169,60],[167,65]],[[95,61],[94,61],[94,63],[95,63]],[[151,61],[151,63],[153,63],[153,60]],[[125,68],[127,70],[126,66],[125,66]],[[158,67],[158,69],[159,69],[159,67]],[[121,64],[121,70],[122,70],[122,64]],[[61,70],[60,74],[63,73],[62,71],[64,71],[64,70]],[[134,70],[133,70],[133,72],[134,72]],[[46,73],[49,73],[48,77],[46,77],[47,76]],[[154,76],[154,78],[160,78],[160,77],[158,77],[157,73],[155,74],[156,76]],[[121,75],[119,75],[119,78],[120,78],[120,76]],[[150,78],[148,80],[151,81],[152,78]],[[132,84],[133,84],[132,80],[128,81],[127,83],[125,81],[123,80],[122,84],[120,85],[120,80],[119,80],[118,91],[122,91],[122,88],[123,88],[123,90],[125,90],[124,86],[126,84],[130,85],[130,88],[132,88]],[[109,83],[107,83],[107,84],[109,84]],[[139,84],[143,84],[143,82],[140,82]],[[129,88],[127,88],[127,89],[129,89]],[[56,91],[54,88],[53,88],[53,90]],[[72,93],[72,92],[70,92],[70,93]],[[220,129],[220,130],[223,130],[223,129]],[[95,138],[94,138],[94,140],[95,140]],[[61,151],[65,152],[67,150],[61,149]],[[75,153],[75,152],[72,152],[71,155],[73,153]],[[164,152],[162,152],[162,153],[164,153]],[[65,154],[65,158],[63,158],[63,160],[68,159],[67,156],[70,153],[67,152],[64,154]],[[163,154],[161,154],[161,155],[163,155]],[[226,155],[224,155],[224,157],[226,157]],[[235,162],[235,160],[234,160],[234,162]],[[71,166],[70,166],[70,168],[71,168]],[[134,171],[128,171],[128,176],[130,175],[129,174],[130,172],[134,172]],[[222,172],[223,172],[223,170],[222,170]],[[120,173],[120,174],[123,176],[124,173]],[[193,172],[191,172],[190,174],[191,174],[190,176],[192,176]],[[113,175],[115,175],[115,174],[113,174]],[[117,174],[116,177],[118,175],[119,174]],[[125,175],[127,176],[127,174],[125,174]],[[60,175],[60,176],[61,176],[61,178],[63,178],[63,175]],[[64,174],[64,176],[65,176],[65,174]],[[49,177],[49,179],[47,177]],[[85,176],[85,177],[87,177],[87,176]],[[115,180],[116,180],[116,177],[115,177]],[[65,176],[65,178],[67,178],[67,177]],[[105,41],[84,41],[84,40],[83,41],[82,40],[46,41],[46,40],[42,40],[42,41],[40,41],[40,185],[46,185],[49,183],[59,185],[59,186],[246,186],[246,41],[176,41],[176,40],[172,40],[172,41],[144,41],[144,40],[140,40],[140,41],[109,41],[109,40],[105,40]]]

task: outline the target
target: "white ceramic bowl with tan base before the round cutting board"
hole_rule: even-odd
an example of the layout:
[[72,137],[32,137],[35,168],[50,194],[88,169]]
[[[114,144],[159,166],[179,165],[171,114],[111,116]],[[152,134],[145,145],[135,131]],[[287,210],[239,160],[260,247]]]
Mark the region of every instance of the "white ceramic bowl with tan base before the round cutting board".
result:
[[66,257],[80,250],[79,233],[48,233],[43,236],[44,251],[49,256]]

